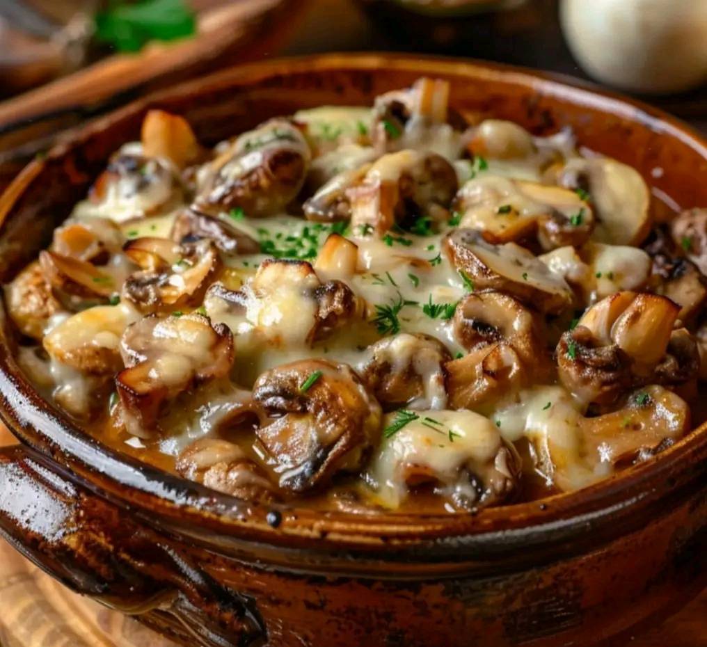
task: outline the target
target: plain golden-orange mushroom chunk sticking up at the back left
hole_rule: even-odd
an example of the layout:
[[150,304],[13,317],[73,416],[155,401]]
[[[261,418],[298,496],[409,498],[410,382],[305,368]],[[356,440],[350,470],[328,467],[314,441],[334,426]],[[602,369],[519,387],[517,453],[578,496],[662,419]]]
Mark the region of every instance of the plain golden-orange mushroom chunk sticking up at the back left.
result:
[[177,168],[197,161],[201,153],[189,122],[164,110],[148,110],[140,139],[146,156],[166,158]]

